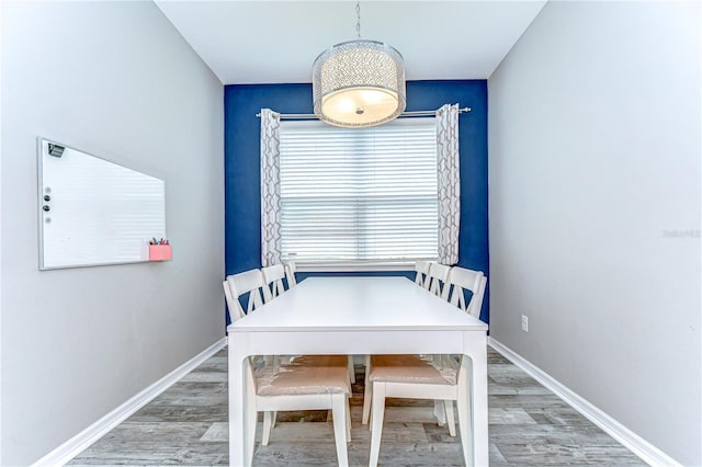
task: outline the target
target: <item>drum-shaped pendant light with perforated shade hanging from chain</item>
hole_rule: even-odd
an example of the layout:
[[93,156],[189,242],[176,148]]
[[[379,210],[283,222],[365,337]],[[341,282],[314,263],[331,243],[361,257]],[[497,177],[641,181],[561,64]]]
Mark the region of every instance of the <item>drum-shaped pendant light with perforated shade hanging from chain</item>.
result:
[[361,39],[361,5],[356,2],[358,39],[322,52],[313,65],[315,114],[330,125],[367,127],[387,123],[405,111],[405,67],[394,47]]

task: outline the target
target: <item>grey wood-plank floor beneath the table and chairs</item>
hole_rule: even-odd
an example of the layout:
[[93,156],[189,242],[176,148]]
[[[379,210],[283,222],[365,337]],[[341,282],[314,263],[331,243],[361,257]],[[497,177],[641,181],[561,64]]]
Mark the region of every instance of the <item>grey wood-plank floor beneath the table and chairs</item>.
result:
[[[349,463],[369,462],[360,384],[351,400]],[[638,457],[488,349],[491,466],[645,465]],[[433,421],[433,402],[388,399],[380,464],[461,466],[458,437]],[[336,449],[326,411],[281,412],[268,446],[257,431],[254,466],[332,466]],[[70,465],[228,464],[227,351],[222,350],[100,438]]]

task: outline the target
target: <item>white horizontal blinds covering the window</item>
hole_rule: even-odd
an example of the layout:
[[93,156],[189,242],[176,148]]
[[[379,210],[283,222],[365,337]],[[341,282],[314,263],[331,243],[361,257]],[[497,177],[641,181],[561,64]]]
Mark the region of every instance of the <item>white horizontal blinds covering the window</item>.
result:
[[437,260],[433,117],[280,125],[281,254],[299,264]]

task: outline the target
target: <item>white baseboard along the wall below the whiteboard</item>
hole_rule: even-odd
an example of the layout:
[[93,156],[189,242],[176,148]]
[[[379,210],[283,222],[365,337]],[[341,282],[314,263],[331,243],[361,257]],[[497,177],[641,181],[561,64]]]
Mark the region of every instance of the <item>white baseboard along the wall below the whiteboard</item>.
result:
[[154,383],[151,386],[147,387],[141,392],[137,394],[136,396],[124,402],[122,406],[117,407],[112,412],[107,413],[106,415],[91,424],[86,430],[68,440],[66,443],[61,444],[56,449],[38,459],[33,464],[33,466],[48,467],[65,465],[78,454],[86,451],[86,448],[88,448],[100,437],[104,436],[110,430],[114,429],[141,407],[154,400],[158,395],[163,392],[173,384],[178,383],[178,380],[180,380],[183,376],[200,366],[205,360],[210,358],[226,344],[227,338],[222,338],[220,340],[202,351],[200,354],[195,355],[190,361],[173,369],[171,373],[163,376],[161,379]]

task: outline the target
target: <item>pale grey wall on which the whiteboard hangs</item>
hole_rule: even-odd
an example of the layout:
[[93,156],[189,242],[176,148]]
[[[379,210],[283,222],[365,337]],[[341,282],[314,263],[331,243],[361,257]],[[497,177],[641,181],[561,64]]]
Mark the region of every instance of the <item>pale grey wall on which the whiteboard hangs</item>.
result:
[[[151,2],[2,2],[2,458],[224,335],[223,87]],[[166,180],[173,261],[39,272],[36,138]]]

